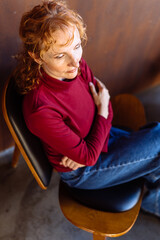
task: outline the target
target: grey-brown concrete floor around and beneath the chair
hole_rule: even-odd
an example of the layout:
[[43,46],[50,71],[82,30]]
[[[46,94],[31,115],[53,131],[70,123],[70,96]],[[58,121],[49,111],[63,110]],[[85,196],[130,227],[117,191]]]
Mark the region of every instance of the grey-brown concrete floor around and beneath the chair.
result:
[[[137,96],[148,121],[160,121],[160,87]],[[41,190],[23,158],[10,166],[12,150],[0,155],[0,240],[89,240],[92,235],[68,222],[58,203],[59,177],[53,174],[49,188]],[[160,219],[140,212],[129,233],[117,240],[158,240]]]

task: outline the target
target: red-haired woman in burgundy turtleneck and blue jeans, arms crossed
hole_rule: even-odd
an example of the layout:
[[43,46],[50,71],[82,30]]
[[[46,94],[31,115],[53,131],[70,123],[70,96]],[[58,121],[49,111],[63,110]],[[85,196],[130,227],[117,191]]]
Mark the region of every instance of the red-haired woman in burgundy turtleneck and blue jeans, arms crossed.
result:
[[63,1],[46,1],[23,15],[20,37],[24,118],[62,180],[98,189],[144,177],[142,207],[160,216],[160,125],[135,133],[111,127],[108,90],[82,58],[82,18]]

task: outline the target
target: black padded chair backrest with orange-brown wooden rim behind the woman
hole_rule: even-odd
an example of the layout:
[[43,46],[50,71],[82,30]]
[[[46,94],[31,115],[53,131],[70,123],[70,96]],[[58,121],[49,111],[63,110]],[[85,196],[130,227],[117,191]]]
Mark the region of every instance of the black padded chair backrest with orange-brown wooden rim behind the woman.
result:
[[49,185],[53,168],[50,165],[40,140],[27,128],[22,113],[23,96],[18,94],[11,76],[5,84],[2,111],[6,124],[23,158],[42,189]]

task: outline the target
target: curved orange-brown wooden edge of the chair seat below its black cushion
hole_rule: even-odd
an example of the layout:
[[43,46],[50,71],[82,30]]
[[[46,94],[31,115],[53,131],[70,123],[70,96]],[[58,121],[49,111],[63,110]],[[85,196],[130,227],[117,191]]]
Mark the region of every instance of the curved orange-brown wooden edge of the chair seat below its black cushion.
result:
[[61,186],[59,191],[64,216],[75,226],[102,237],[118,237],[128,232],[137,219],[141,205],[140,199],[132,210],[116,214],[103,212],[78,203]]

